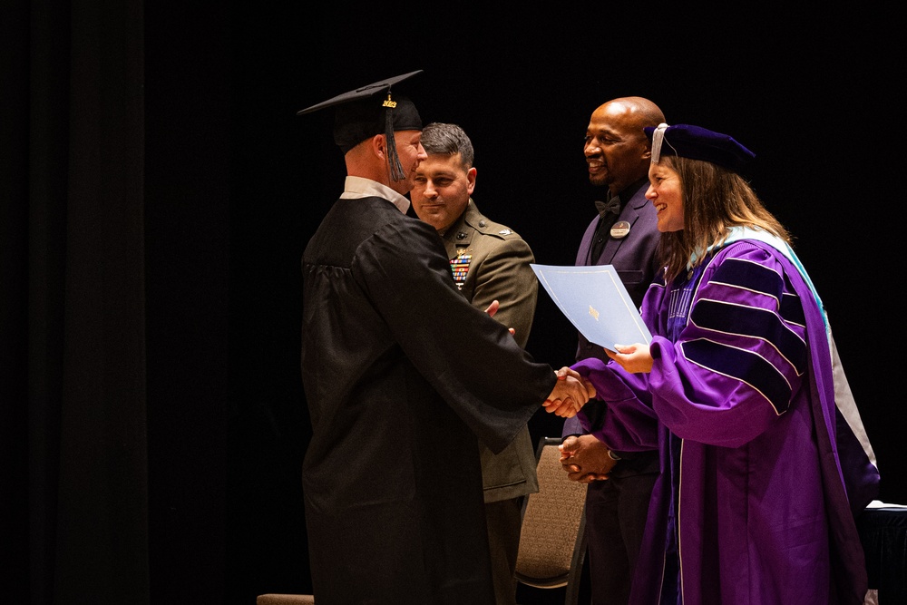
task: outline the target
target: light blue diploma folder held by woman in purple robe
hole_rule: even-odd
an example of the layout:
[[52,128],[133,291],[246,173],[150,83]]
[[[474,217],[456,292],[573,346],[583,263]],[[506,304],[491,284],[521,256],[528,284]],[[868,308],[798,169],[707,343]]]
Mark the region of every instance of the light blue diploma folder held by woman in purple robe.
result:
[[591,343],[613,351],[614,345],[651,342],[649,328],[612,265],[531,266],[561,312]]

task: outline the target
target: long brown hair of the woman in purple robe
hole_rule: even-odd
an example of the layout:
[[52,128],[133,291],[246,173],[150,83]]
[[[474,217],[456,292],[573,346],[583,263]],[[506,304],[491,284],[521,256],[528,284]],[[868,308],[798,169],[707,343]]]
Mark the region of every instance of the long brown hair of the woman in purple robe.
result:
[[734,171],[709,161],[662,155],[658,163],[677,171],[683,196],[683,230],[661,234],[660,254],[665,281],[695,267],[705,251],[727,239],[731,227],[763,229],[791,243],[787,229],[769,212],[749,183]]

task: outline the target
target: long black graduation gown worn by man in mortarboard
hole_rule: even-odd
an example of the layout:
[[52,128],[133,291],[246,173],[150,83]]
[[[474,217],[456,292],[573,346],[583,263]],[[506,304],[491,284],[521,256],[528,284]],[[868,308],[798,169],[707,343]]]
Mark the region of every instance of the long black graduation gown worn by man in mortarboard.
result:
[[382,198],[336,201],[303,285],[317,602],[492,603],[476,435],[510,443],[551,366],[463,298],[434,228]]

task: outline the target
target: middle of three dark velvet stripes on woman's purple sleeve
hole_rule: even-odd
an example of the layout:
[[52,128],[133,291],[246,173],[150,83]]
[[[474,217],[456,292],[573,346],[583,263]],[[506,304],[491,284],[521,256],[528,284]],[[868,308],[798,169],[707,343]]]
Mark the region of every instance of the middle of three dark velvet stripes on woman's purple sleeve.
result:
[[797,374],[805,372],[804,341],[771,311],[717,300],[699,300],[690,313],[690,319],[702,329],[767,340],[790,361]]

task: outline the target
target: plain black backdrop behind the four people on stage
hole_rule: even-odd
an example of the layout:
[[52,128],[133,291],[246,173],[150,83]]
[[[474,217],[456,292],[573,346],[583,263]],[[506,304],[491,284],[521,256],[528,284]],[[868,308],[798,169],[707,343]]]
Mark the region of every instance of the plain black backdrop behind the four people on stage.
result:
[[[424,121],[473,138],[475,199],[545,264],[572,263],[592,215],[600,102],[647,96],[755,151],[747,176],[824,299],[883,500],[907,503],[893,15],[67,4],[16,0],[0,22],[8,602],[310,590],[299,259],[344,171],[329,115],[296,112],[416,69]],[[574,342],[542,292],[532,355],[567,364]],[[531,428],[560,434],[543,413]]]

